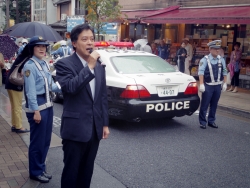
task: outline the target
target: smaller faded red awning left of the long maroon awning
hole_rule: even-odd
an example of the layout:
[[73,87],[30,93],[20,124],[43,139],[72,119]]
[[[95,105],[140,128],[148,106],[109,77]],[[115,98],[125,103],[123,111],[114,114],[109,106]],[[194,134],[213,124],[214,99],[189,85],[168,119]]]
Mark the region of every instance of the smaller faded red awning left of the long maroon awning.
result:
[[[180,6],[171,6],[158,10],[133,10],[133,11],[122,11],[123,17],[126,18],[130,22],[139,22],[141,17],[145,16],[154,16],[162,13],[166,13],[169,11],[173,11],[178,9]],[[127,17],[126,17],[126,16]]]

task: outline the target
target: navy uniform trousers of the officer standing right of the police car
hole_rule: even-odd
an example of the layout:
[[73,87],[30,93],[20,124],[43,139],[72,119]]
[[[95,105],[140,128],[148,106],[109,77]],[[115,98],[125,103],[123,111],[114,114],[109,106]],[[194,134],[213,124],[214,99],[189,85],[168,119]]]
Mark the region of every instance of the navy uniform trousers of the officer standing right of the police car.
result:
[[215,122],[215,113],[220,99],[221,85],[205,85],[205,92],[202,93],[199,121],[201,125],[206,125],[206,113],[208,106],[210,105],[208,114],[208,123],[213,124]]

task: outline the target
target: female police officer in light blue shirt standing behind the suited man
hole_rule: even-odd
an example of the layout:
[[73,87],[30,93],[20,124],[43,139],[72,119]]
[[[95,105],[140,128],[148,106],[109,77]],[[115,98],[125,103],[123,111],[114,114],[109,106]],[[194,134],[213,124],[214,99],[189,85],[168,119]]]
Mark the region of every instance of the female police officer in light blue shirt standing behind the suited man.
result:
[[29,173],[30,179],[47,183],[52,178],[45,168],[53,123],[49,92],[60,91],[60,85],[53,82],[49,66],[43,60],[49,44],[42,37],[34,36],[27,45],[31,58],[25,63],[23,72],[25,111],[30,124]]

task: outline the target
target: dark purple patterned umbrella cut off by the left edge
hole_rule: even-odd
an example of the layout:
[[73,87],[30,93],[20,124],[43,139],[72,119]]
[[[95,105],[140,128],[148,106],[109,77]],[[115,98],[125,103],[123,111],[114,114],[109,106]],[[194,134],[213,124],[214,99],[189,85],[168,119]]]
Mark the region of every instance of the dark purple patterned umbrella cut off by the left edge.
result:
[[10,59],[18,50],[16,43],[8,35],[0,35],[0,53],[4,59]]

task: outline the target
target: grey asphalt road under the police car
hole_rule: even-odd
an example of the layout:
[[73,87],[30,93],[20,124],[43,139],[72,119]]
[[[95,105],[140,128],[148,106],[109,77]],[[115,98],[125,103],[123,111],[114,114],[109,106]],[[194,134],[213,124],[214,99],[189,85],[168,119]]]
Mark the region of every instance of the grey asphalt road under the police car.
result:
[[[61,113],[62,104],[55,104],[57,135]],[[112,122],[109,139],[100,143],[91,188],[250,187],[249,119],[218,113],[216,123],[219,129],[200,129],[197,115]],[[59,188],[61,147],[50,149],[47,168],[53,179],[39,187]]]

